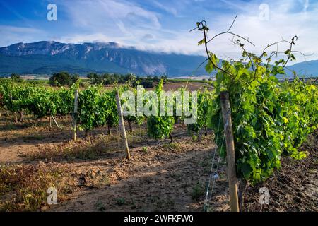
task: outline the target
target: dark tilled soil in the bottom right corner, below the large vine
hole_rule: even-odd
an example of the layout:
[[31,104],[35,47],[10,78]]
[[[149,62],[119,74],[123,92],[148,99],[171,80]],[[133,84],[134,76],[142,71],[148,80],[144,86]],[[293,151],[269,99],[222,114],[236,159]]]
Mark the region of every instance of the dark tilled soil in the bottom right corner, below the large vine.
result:
[[[282,160],[281,170],[262,184],[247,189],[247,211],[318,211],[318,131],[309,136],[300,150],[307,150],[306,159]],[[259,188],[269,189],[269,205],[259,204]]]

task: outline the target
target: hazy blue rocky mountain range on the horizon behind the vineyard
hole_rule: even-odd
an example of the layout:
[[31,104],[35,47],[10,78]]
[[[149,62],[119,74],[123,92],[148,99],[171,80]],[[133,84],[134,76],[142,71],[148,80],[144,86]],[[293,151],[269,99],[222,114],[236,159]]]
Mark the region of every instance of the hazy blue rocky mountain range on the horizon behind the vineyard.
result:
[[[121,47],[115,42],[21,42],[0,48],[0,76],[11,73],[45,75],[59,71],[80,75],[90,72],[135,73],[140,76],[165,73],[170,77],[206,75],[204,66],[196,70],[205,59],[194,55],[147,52]],[[318,76],[318,60],[294,64],[289,68],[300,74]],[[288,72],[288,76],[291,75]]]

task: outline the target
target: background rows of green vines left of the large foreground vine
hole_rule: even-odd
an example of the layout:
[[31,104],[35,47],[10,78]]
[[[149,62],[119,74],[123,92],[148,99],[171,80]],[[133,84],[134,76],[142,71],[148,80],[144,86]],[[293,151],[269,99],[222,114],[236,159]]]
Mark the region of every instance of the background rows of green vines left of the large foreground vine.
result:
[[[120,88],[105,90],[102,86],[92,85],[78,93],[78,112],[74,115],[75,91],[79,90],[79,85],[74,84],[71,88],[49,88],[28,83],[13,83],[10,80],[1,81],[1,109],[11,112],[15,116],[15,122],[23,121],[23,114],[32,115],[35,119],[47,117],[49,125],[52,126],[51,117],[71,116],[78,119],[78,130],[85,131],[88,136],[89,131],[98,127],[107,126],[111,134],[111,127],[117,126],[119,116],[115,99],[116,90],[136,93],[136,89],[129,88],[128,85]],[[155,89],[156,93],[163,90],[163,81],[160,81]],[[184,90],[181,88],[180,90]],[[120,93],[120,92],[119,92]],[[213,93],[208,90],[198,91],[199,111],[196,124],[189,124],[191,132],[199,131],[207,126],[207,111],[211,106]],[[124,100],[123,100],[124,101]],[[143,98],[144,102],[149,101],[149,97]],[[172,103],[175,106],[175,102]],[[19,116],[19,117],[18,117]],[[147,131],[151,138],[165,138],[172,133],[173,125],[182,117],[146,117],[126,116],[125,121],[129,124],[140,125],[147,121]],[[70,122],[71,123],[71,122]]]

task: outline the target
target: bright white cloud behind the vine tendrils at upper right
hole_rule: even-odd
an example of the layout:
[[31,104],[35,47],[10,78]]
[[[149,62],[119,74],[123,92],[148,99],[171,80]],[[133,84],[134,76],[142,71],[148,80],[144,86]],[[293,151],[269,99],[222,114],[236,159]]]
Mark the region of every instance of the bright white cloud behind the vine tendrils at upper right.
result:
[[[223,0],[224,2],[228,2]],[[312,54],[312,56],[306,57],[307,60],[318,59],[318,8],[316,4],[306,5],[306,2],[302,3],[298,0],[293,1],[267,1],[269,5],[270,17],[268,21],[259,20],[259,4],[247,3],[242,1],[235,4],[229,4],[233,11],[236,10],[239,13],[235,25],[232,28],[232,32],[235,32],[243,37],[248,37],[256,46],[253,47],[250,44],[245,44],[245,47],[252,52],[261,53],[262,49],[267,44],[271,44],[283,39],[290,40],[294,35],[298,35],[298,42],[296,42],[295,50],[299,50],[304,54]],[[244,9],[242,9],[242,6]],[[305,11],[304,8],[307,8]],[[308,10],[310,9],[310,10]],[[228,29],[234,16],[221,15],[216,17],[207,18],[208,22],[213,21],[212,24],[217,30],[213,32],[222,32]],[[210,34],[212,36],[212,34]],[[233,47],[228,39],[232,39],[232,35],[223,35],[210,44],[211,50],[216,52],[219,56],[230,56],[237,59],[240,57],[240,48]],[[280,44],[279,51],[284,52],[288,49],[288,45]],[[273,47],[272,50],[276,50]],[[305,61],[305,58],[301,54],[295,54],[298,61]],[[281,55],[283,57],[283,55]],[[297,62],[298,62],[297,61]],[[294,63],[294,62],[292,62]]]

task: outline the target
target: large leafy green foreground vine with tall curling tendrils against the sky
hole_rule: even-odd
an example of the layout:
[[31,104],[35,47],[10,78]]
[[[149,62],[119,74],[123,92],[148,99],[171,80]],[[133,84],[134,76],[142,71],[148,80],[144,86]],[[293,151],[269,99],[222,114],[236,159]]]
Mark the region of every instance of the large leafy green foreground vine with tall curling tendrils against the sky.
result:
[[[237,39],[233,42],[242,48],[242,59],[220,61],[215,54],[208,51],[208,42],[225,33],[245,42],[249,40],[229,32],[232,25],[227,32],[207,40],[209,29],[206,21],[196,25],[196,29],[204,35],[199,45],[204,44],[206,49],[206,71],[216,73],[216,81],[213,83],[216,95],[209,109],[208,119],[208,126],[215,133],[223,134],[223,126],[218,126],[221,119],[220,92],[226,90],[230,95],[237,177],[240,179],[239,196],[242,201],[242,192],[247,182],[257,184],[268,178],[274,169],[281,166],[281,155],[301,160],[308,154],[297,148],[317,128],[317,87],[300,81],[295,73],[295,79],[291,83],[278,81],[278,75],[285,76],[288,61],[295,60],[293,46],[298,40],[297,36],[290,41],[269,44],[260,56],[247,52],[245,44]],[[282,42],[289,45],[284,52],[285,58],[272,64],[273,57],[277,57],[278,52],[269,52],[269,47]],[[216,141],[218,147],[222,141],[223,137],[219,136]],[[222,149],[220,152],[225,156],[225,148]]]

